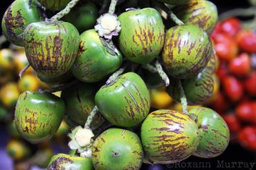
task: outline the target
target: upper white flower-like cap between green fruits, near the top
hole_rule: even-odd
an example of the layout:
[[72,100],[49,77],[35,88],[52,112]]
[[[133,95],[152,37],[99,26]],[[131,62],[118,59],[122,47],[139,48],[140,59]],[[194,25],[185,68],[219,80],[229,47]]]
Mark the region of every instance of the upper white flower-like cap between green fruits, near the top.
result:
[[105,39],[112,39],[112,36],[118,36],[120,32],[120,21],[116,14],[102,14],[100,18],[97,19],[97,25],[95,25],[95,30],[98,31],[100,36],[104,36]]

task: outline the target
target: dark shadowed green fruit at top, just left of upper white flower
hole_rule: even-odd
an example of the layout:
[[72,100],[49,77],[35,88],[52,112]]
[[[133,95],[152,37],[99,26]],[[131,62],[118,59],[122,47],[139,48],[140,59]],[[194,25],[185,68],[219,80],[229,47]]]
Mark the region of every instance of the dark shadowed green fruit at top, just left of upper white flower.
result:
[[97,7],[90,2],[78,3],[66,16],[62,19],[68,23],[75,25],[75,28],[82,33],[84,30],[93,28],[98,18]]

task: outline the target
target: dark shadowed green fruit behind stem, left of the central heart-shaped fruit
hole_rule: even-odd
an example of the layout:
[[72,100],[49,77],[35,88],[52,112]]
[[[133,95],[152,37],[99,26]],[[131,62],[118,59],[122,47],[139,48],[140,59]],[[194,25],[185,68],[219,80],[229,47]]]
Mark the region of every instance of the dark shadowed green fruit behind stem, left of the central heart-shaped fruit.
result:
[[[95,86],[86,83],[77,83],[71,88],[62,91],[62,98],[66,103],[66,113],[80,125],[84,125],[90,112],[95,106],[94,96],[96,90]],[[100,114],[96,114],[93,118],[91,127],[99,127],[104,122],[104,118]]]

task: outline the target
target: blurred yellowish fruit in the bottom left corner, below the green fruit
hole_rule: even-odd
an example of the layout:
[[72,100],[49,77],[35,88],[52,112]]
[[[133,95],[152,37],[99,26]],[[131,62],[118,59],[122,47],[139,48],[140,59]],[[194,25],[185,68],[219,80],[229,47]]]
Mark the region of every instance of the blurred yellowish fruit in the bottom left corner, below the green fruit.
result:
[[28,158],[32,151],[30,147],[22,140],[10,140],[6,146],[6,152],[15,161]]

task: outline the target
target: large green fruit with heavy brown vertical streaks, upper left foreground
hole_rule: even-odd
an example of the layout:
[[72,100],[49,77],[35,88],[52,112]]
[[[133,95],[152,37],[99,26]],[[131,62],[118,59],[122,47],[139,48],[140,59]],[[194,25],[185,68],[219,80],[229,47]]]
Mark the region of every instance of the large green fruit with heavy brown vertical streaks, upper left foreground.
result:
[[79,32],[71,23],[31,23],[24,32],[28,62],[43,76],[63,75],[75,62],[79,39]]

